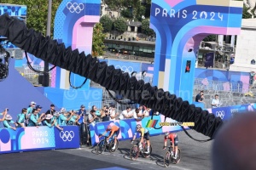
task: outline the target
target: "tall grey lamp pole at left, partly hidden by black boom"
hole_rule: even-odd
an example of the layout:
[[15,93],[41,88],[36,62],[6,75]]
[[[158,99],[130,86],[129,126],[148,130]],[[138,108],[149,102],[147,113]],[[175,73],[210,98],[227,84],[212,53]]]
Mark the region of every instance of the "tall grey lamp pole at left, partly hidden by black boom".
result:
[[[52,6],[52,0],[48,1],[48,16],[47,16],[47,28],[46,28],[46,36],[50,37],[50,23],[51,23],[51,6]],[[49,63],[44,61],[44,77],[42,85],[44,87],[49,86]]]

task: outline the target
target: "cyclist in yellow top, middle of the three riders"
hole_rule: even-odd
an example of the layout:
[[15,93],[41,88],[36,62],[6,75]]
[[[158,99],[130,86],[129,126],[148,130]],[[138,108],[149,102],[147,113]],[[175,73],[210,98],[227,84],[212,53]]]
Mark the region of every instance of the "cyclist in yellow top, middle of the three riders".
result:
[[146,154],[149,153],[149,147],[150,147],[150,141],[149,141],[149,132],[146,128],[143,128],[142,125],[137,125],[136,126],[136,133],[134,133],[133,139],[131,140],[131,143],[133,143],[133,141],[136,138],[137,133],[141,133],[141,141],[139,143],[139,148],[142,148],[143,145],[143,139],[147,140],[147,144],[148,144],[148,148],[145,151]]

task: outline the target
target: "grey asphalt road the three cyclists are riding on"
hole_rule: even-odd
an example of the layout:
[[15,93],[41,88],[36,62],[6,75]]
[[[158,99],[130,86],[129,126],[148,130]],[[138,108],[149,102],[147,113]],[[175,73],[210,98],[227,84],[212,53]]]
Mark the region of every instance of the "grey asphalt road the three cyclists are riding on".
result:
[[[196,139],[207,137],[189,130]],[[108,151],[96,155],[96,150],[88,147],[73,150],[43,150],[3,154],[0,164],[4,169],[97,169],[97,170],[127,170],[127,169],[168,169],[173,170],[207,170],[211,169],[212,142],[199,143],[183,133],[178,133],[179,148],[181,149],[181,161],[170,167],[163,167],[163,156],[166,150],[162,150],[164,136],[150,138],[153,151],[150,157],[139,157],[137,161],[131,161],[129,152],[132,144],[130,141],[119,142],[119,150],[114,153]]]

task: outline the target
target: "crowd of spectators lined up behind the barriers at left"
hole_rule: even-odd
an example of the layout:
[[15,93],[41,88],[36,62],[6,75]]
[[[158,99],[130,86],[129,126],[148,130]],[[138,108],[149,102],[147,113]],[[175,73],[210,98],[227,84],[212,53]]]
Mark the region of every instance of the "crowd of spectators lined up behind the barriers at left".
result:
[[79,111],[66,111],[65,108],[55,111],[55,105],[52,104],[49,105],[48,111],[42,112],[42,106],[32,101],[27,108],[20,111],[16,119],[9,115],[8,109],[5,109],[0,113],[3,116],[0,122],[3,122],[3,127],[12,128],[13,130],[16,130],[16,127],[48,126],[56,127],[62,131],[65,126],[79,126],[80,143],[89,145],[91,123],[129,118],[141,121],[144,117],[151,115],[151,109],[143,105],[138,108],[127,106],[125,111],[117,111],[115,105],[112,104],[104,105],[102,109],[97,109],[96,105],[93,105],[89,109],[91,110],[88,114],[86,114],[84,105],[80,105]]

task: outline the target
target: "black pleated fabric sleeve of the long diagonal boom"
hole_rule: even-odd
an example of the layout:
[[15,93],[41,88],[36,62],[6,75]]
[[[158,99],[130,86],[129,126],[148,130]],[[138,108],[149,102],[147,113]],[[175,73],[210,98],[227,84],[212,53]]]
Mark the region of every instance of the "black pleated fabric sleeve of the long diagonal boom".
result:
[[43,37],[41,33],[28,30],[22,21],[9,17],[8,14],[0,16],[0,36],[8,37],[9,42],[15,46],[52,65],[90,78],[108,90],[123,94],[128,99],[159,111],[177,122],[195,122],[195,127],[191,128],[211,138],[222,125],[222,120],[208,111],[189,105],[189,102],[152,87],[149,83],[137,81],[135,77],[114,69],[113,65],[108,66],[105,62],[99,62],[90,54],[79,54],[77,49],[66,48],[63,43],[58,44],[49,37]]

